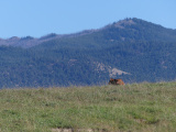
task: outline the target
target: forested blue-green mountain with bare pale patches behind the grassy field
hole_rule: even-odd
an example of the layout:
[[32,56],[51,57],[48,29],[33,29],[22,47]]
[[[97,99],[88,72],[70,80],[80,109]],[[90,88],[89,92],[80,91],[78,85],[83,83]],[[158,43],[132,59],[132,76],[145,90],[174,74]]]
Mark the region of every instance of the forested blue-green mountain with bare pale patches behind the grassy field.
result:
[[1,88],[176,79],[176,30],[136,18],[73,34],[1,38],[0,45]]

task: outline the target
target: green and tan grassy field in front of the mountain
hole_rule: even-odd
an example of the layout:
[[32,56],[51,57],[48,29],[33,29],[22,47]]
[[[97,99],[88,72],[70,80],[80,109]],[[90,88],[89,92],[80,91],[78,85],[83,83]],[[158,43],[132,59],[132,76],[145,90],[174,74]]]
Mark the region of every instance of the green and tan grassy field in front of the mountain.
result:
[[176,82],[2,89],[0,132],[174,132]]

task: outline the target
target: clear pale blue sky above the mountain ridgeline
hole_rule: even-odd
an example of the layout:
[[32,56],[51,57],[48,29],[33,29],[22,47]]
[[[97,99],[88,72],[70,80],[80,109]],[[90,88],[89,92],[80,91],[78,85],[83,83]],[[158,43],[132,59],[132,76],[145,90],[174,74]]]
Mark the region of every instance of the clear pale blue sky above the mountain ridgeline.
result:
[[0,37],[75,33],[125,18],[176,29],[176,0],[0,0]]

